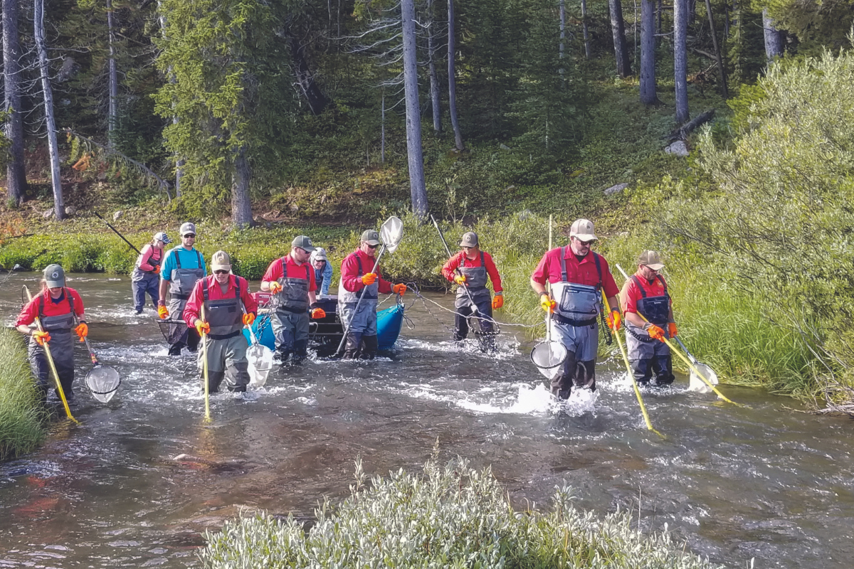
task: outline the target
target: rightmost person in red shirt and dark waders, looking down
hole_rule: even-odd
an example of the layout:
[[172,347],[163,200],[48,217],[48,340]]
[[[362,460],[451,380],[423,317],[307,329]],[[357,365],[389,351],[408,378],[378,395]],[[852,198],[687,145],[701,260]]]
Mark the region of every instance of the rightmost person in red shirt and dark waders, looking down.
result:
[[669,386],[674,380],[670,346],[664,338],[676,337],[676,322],[667,282],[658,273],[662,269],[664,263],[658,252],[640,253],[637,272],[629,276],[620,292],[629,363],[635,381],[643,385]]

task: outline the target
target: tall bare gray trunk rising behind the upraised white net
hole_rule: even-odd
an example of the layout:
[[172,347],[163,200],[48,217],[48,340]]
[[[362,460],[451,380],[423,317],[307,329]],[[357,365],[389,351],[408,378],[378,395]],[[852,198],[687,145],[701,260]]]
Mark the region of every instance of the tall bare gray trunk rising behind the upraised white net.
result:
[[[427,217],[424,156],[421,150],[421,107],[418,104],[418,55],[415,45],[415,0],[401,1],[403,26],[403,85],[407,97],[407,156],[412,212]],[[453,59],[448,57],[448,60]]]

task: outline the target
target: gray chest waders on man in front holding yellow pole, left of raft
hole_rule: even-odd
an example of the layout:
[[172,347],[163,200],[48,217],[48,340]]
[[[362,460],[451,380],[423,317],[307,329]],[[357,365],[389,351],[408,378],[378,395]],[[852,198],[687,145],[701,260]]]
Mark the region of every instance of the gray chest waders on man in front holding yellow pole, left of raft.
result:
[[[210,282],[202,287],[205,320],[210,325],[208,334],[208,389],[219,391],[226,370],[231,370],[233,382],[227,382],[230,391],[245,392],[249,385],[249,362],[246,359],[246,339],[243,337],[243,306],[240,301],[240,278],[234,277],[235,294],[231,299],[210,299]],[[215,282],[215,281],[214,281]],[[216,283],[216,286],[221,286]],[[199,352],[199,369],[202,358]],[[202,376],[202,381],[204,378]]]

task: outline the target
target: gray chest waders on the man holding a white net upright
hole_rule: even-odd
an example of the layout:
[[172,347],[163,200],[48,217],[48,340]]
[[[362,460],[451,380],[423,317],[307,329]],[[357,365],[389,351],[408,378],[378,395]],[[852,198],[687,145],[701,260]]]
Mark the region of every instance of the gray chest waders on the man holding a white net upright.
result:
[[[362,259],[355,254],[359,268],[359,277],[364,276]],[[346,327],[350,322],[347,343],[344,345],[344,359],[373,359],[377,355],[377,304],[379,295],[379,278],[371,285],[353,293],[344,287],[338,290],[338,315]],[[356,313],[356,303],[362,299],[359,312]]]

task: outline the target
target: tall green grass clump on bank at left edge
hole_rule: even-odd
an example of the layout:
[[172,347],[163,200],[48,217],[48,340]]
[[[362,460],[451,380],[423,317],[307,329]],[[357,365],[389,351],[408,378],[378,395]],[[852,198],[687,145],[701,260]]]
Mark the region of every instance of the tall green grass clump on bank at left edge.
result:
[[0,460],[35,449],[44,439],[44,407],[38,404],[20,334],[0,329]]

